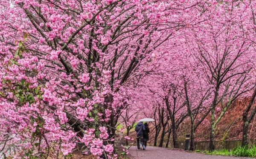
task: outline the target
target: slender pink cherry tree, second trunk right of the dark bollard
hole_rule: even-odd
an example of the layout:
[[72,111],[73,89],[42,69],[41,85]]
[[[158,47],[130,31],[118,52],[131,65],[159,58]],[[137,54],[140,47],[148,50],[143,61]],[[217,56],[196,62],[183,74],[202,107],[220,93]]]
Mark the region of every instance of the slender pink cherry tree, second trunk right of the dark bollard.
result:
[[[235,2],[220,4],[216,10],[218,14],[212,16],[204,28],[199,27],[199,32],[198,28],[195,29],[195,43],[189,44],[193,46],[191,50],[195,57],[202,63],[199,69],[209,85],[214,87],[209,150],[214,150],[215,127],[221,117],[238,97],[251,89],[248,82],[248,73],[252,68],[248,58],[252,55],[251,43],[246,39],[248,31],[244,31],[241,21],[241,18],[247,18],[247,14],[242,12],[247,4],[236,3],[238,8]],[[218,116],[215,113],[217,105],[221,105]]]

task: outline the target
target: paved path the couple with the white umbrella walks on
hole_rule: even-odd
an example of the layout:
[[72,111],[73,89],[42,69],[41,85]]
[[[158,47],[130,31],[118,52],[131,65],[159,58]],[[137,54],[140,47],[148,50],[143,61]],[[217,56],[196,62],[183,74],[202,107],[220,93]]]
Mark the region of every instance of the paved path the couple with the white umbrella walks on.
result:
[[148,146],[147,150],[137,150],[135,146],[129,149],[131,159],[252,159],[247,157],[230,157],[191,153],[183,150],[170,150]]

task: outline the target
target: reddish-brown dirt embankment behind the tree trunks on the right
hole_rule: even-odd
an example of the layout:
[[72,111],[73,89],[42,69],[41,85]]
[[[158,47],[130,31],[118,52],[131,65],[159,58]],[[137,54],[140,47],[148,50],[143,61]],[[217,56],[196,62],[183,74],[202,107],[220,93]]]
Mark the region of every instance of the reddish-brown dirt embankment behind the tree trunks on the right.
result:
[[[231,105],[226,114],[218,123],[215,131],[216,140],[238,140],[242,139],[243,121],[242,114],[249,100],[237,100]],[[220,111],[218,112],[220,113]],[[196,140],[209,140],[210,116],[207,116],[204,123],[199,125],[196,131]],[[254,116],[249,129],[249,137],[256,139],[256,116]]]

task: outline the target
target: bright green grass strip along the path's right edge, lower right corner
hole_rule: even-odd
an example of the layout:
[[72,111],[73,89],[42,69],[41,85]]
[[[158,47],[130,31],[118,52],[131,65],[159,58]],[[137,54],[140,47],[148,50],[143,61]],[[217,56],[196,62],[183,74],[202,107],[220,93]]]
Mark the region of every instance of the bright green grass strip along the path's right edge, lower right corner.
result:
[[[198,150],[196,150],[198,152]],[[256,157],[256,145],[254,145],[252,148],[245,147],[236,147],[232,150],[214,150],[214,151],[208,151],[204,150],[202,153],[205,153],[207,155],[222,155],[222,156],[242,156],[242,157]]]

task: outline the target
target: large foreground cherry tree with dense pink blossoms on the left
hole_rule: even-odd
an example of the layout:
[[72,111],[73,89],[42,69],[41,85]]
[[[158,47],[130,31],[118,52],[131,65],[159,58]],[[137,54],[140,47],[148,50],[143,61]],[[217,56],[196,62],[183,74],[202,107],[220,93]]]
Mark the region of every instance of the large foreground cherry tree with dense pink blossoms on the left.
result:
[[150,73],[156,49],[177,30],[199,23],[199,4],[0,0],[3,152],[58,158],[80,141],[95,156],[115,157],[129,82]]

